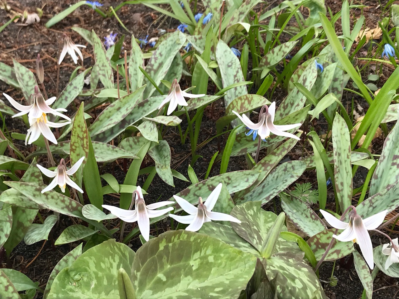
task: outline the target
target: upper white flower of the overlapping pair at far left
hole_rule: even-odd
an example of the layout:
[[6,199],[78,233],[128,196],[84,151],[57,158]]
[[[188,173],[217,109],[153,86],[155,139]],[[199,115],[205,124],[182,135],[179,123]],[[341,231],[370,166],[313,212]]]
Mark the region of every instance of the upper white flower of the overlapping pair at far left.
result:
[[17,110],[20,110],[21,112],[13,115],[12,117],[17,117],[21,115],[28,114],[29,118],[40,118],[43,114],[54,114],[59,117],[65,118],[68,121],[71,121],[71,119],[63,115],[62,113],[59,113],[58,111],[63,111],[66,112],[67,110],[64,108],[58,108],[58,109],[53,109],[49,105],[53,104],[55,101],[56,97],[53,96],[52,98],[49,98],[48,100],[44,100],[43,95],[39,92],[39,88],[36,85],[35,86],[35,93],[32,94],[33,96],[33,102],[29,106],[24,106],[18,103],[16,100],[14,100],[11,96],[8,94],[3,93],[3,95],[7,98],[7,100],[16,108]]

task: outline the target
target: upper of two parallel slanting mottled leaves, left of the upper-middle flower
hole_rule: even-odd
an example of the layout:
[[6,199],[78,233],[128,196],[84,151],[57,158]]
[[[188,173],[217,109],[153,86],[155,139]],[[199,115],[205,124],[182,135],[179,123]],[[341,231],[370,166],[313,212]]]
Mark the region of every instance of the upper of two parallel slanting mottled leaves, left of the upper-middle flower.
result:
[[[134,92],[119,98],[97,116],[96,120],[89,127],[90,136],[107,131],[109,128],[120,124],[120,122],[135,108],[136,104],[142,102],[142,95],[145,86]],[[143,115],[141,115],[143,116]]]

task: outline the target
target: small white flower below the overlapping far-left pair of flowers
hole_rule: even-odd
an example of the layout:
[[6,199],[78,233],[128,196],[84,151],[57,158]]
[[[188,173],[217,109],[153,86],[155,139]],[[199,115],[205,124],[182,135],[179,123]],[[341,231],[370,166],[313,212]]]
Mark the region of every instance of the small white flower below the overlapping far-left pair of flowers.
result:
[[61,188],[62,193],[64,193],[67,184],[72,188],[75,188],[80,193],[83,193],[83,190],[80,189],[80,187],[74,181],[72,181],[68,175],[73,175],[79,169],[84,159],[85,157],[81,157],[69,170],[67,170],[67,167],[65,166],[64,159],[61,159],[55,171],[51,171],[39,164],[36,164],[36,166],[39,167],[40,171],[44,173],[44,175],[47,177],[55,177],[55,179],[53,179],[53,181],[51,181],[51,183],[45,187],[41,193],[45,193],[57,185]]

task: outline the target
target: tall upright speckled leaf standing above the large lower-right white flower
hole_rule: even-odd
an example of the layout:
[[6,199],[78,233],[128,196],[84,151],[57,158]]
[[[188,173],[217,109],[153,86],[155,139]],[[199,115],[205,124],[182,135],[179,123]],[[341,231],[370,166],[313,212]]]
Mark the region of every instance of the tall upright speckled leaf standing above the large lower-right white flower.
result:
[[352,203],[352,166],[350,134],[348,126],[338,113],[332,125],[332,144],[334,149],[334,180],[338,202],[342,211]]

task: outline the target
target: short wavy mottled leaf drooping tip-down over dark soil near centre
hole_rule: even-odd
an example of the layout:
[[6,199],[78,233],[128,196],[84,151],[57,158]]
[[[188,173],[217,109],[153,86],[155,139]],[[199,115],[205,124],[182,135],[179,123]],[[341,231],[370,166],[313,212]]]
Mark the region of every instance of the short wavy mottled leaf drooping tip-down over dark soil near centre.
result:
[[174,187],[172,170],[170,169],[171,154],[168,142],[160,140],[159,144],[148,151],[148,155],[154,160],[156,172],[162,181]]

